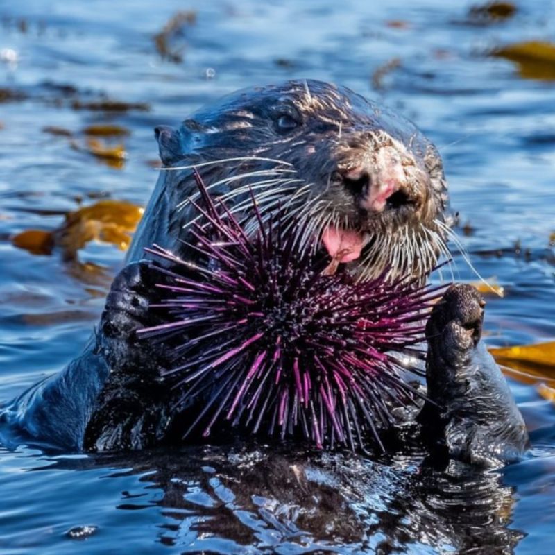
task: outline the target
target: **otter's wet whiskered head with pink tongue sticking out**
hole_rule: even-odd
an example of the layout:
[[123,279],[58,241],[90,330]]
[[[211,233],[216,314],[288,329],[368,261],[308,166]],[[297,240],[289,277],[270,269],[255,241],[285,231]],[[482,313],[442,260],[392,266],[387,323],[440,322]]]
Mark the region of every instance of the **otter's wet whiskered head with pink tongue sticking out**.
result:
[[157,138],[176,170],[166,189],[182,225],[192,191],[183,184],[196,166],[236,214],[252,191],[263,218],[279,208],[308,221],[307,233],[358,279],[388,271],[423,280],[447,253],[436,149],[413,123],[344,87],[308,80],[239,91],[177,131],[157,128]]

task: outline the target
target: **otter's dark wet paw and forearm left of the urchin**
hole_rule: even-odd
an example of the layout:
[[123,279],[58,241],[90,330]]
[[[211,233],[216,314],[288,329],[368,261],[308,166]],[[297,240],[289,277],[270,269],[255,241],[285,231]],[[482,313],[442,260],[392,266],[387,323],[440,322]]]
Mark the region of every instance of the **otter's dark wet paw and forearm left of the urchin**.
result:
[[85,429],[87,450],[139,449],[160,443],[170,422],[171,389],[162,375],[167,349],[137,336],[158,323],[148,309],[159,300],[147,261],[116,276],[96,334],[95,352],[110,369]]

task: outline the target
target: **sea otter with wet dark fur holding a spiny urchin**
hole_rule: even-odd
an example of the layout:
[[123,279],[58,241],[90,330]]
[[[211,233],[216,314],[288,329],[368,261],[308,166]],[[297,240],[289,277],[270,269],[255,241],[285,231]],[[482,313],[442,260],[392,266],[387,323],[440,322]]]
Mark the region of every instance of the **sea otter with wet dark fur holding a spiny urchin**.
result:
[[[157,293],[144,249],[159,244],[182,258],[194,257],[184,241],[198,215],[188,200],[197,194],[194,168],[212,194],[246,219],[247,230],[267,223],[279,206],[294,215],[287,232],[295,233],[303,222],[303,232],[317,237],[323,252],[334,264],[346,265],[355,280],[386,273],[392,280],[411,274],[423,282],[447,252],[447,185],[436,148],[413,123],[345,87],[307,80],[242,90],[200,109],[177,129],[156,128],[155,136],[164,169],[99,326],[65,370],[3,407],[0,419],[15,443],[105,451],[179,441],[171,427],[167,384],[160,378],[171,365],[169,354],[139,341],[137,330],[156,318],[148,311]],[[257,214],[249,220],[250,195]],[[475,302],[471,297],[446,297],[445,323],[438,332],[451,323],[467,329],[470,324],[460,315],[470,300]],[[471,324],[479,340],[479,326]],[[495,364],[480,361],[478,367],[487,370],[476,371],[477,349],[479,341],[441,343],[432,337],[432,408],[423,414],[443,412],[441,425],[422,428],[429,438],[445,430],[449,436],[462,410],[450,412],[450,407],[490,395],[511,417],[504,427],[508,446],[497,441],[497,458],[511,458],[526,444],[522,418]],[[468,388],[459,388],[456,380],[443,382],[443,366],[449,365],[468,380]],[[470,406],[457,428],[462,436],[479,434],[497,418],[479,403]],[[454,447],[447,438],[443,445],[461,459],[485,461],[487,456],[474,453],[487,449],[492,438],[480,438],[456,441]]]

